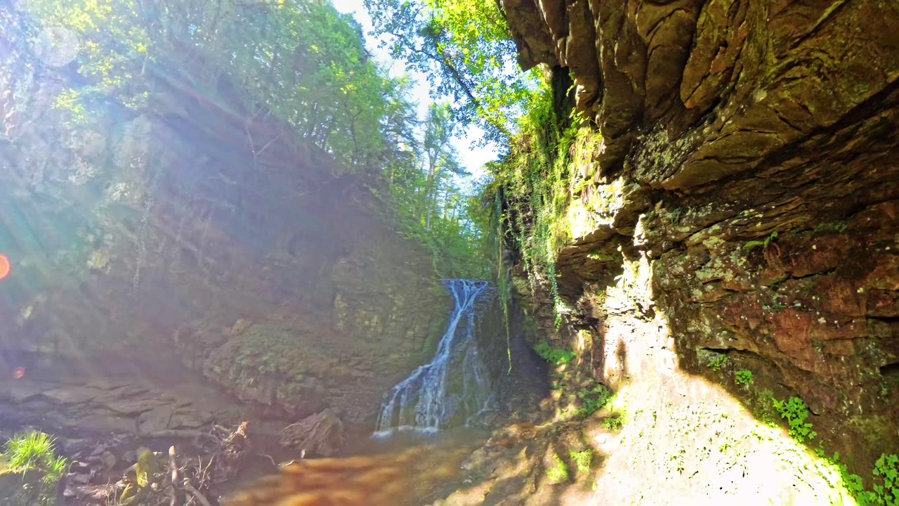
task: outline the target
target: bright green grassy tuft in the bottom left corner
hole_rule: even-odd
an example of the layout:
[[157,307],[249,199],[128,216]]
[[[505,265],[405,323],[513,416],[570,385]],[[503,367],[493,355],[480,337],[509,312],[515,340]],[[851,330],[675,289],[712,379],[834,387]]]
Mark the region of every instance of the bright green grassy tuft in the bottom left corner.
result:
[[7,498],[11,504],[56,504],[57,483],[66,474],[66,469],[66,457],[56,455],[54,439],[37,430],[14,436],[0,454],[0,471],[42,474],[40,483],[26,483],[15,497]]

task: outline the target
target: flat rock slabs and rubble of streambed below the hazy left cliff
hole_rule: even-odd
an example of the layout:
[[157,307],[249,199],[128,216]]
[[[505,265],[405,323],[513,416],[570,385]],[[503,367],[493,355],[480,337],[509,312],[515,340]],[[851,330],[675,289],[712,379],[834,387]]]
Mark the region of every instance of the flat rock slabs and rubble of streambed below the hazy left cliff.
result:
[[[26,429],[53,435],[69,463],[60,487],[66,504],[116,503],[128,482],[121,478],[134,474],[146,449],[160,463],[171,446],[181,465],[205,461],[213,502],[301,455],[301,448],[280,444],[281,430],[297,420],[260,416],[258,406],[239,402],[202,376],[158,357],[148,364],[113,354],[76,359],[7,352],[4,367],[9,370],[0,381],[0,437],[6,440]],[[236,448],[233,468],[224,462],[209,466],[242,422],[250,428],[253,445]],[[334,425],[319,432],[294,431],[285,442],[305,445],[304,436],[316,435],[342,442],[343,425],[340,420]],[[320,443],[309,446],[319,449]],[[224,455],[218,460],[224,461]]]

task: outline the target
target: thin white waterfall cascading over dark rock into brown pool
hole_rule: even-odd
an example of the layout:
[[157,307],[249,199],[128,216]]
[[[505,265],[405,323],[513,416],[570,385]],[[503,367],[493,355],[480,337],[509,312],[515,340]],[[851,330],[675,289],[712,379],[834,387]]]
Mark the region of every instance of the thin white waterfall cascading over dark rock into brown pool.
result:
[[493,407],[493,384],[475,339],[478,298],[485,281],[442,280],[455,300],[449,325],[431,363],[414,370],[384,395],[376,435],[393,429],[436,431]]

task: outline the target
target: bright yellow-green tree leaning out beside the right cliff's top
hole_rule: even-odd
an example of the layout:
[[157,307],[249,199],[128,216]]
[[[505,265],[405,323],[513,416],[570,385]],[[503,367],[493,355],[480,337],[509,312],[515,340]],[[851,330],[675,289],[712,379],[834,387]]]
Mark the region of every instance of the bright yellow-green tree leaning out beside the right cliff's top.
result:
[[428,76],[434,98],[450,95],[459,121],[477,122],[486,140],[506,144],[536,79],[517,67],[500,4],[423,1],[365,0],[365,6],[384,46]]

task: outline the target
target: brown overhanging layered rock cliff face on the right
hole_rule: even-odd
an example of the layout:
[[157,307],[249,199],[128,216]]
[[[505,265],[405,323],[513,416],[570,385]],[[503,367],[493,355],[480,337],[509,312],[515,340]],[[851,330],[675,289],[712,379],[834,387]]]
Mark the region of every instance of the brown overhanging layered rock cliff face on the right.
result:
[[570,70],[600,133],[570,170],[567,325],[539,290],[538,324],[607,384],[798,395],[829,449],[895,452],[899,5],[503,5],[521,65]]

